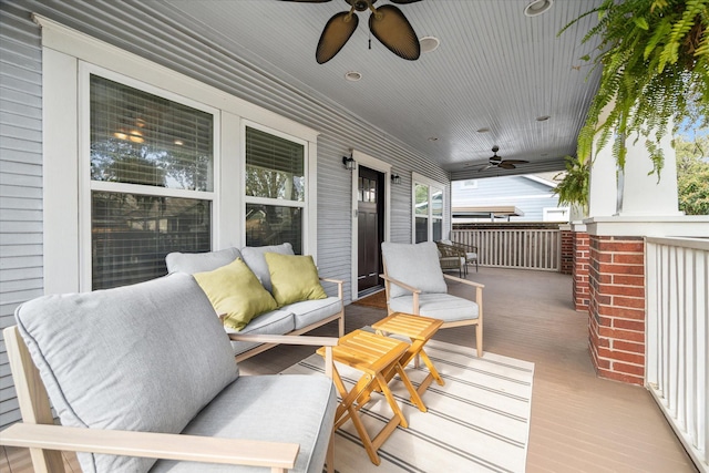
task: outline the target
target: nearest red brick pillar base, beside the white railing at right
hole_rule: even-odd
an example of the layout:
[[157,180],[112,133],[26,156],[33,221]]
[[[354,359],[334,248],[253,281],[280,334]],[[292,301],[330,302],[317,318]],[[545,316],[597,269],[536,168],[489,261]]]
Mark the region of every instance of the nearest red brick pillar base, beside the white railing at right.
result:
[[600,378],[645,381],[643,238],[590,237],[588,345]]

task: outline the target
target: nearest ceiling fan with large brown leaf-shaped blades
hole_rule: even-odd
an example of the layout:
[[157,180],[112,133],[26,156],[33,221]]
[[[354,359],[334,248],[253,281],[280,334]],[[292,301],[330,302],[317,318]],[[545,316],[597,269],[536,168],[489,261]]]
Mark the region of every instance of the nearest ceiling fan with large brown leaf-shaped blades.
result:
[[[304,3],[325,3],[330,0],[281,0]],[[421,0],[390,0],[392,3],[407,4]],[[374,8],[377,0],[345,0],[350,6],[349,11],[342,11],[328,20],[320,34],[315,58],[318,64],[323,64],[340,52],[345,43],[350,39],[359,18],[354,11],[371,10],[369,17],[369,30],[383,45],[400,58],[415,61],[421,55],[421,45],[413,27],[393,4],[383,4]]]

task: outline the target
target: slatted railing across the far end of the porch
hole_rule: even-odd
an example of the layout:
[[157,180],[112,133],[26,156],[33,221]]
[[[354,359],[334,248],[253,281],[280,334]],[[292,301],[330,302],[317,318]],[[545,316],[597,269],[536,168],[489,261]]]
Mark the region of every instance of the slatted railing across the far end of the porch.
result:
[[558,271],[562,233],[549,229],[459,229],[451,239],[477,247],[481,266]]

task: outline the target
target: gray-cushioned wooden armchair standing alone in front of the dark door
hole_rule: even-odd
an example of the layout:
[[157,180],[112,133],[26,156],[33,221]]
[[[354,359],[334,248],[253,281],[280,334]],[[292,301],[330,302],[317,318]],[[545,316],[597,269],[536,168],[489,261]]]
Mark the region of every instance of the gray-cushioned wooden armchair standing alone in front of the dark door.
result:
[[[475,327],[477,357],[483,356],[483,288],[443,274],[433,241],[381,244],[389,313],[404,312],[443,320],[441,328]],[[448,294],[446,280],[475,289],[475,300]]]

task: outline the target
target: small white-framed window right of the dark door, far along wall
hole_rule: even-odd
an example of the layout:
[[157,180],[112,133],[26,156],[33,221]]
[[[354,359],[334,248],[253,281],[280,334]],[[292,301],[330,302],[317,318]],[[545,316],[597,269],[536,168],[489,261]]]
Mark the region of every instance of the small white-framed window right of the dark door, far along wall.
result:
[[442,184],[413,176],[413,241],[436,241],[443,238]]

